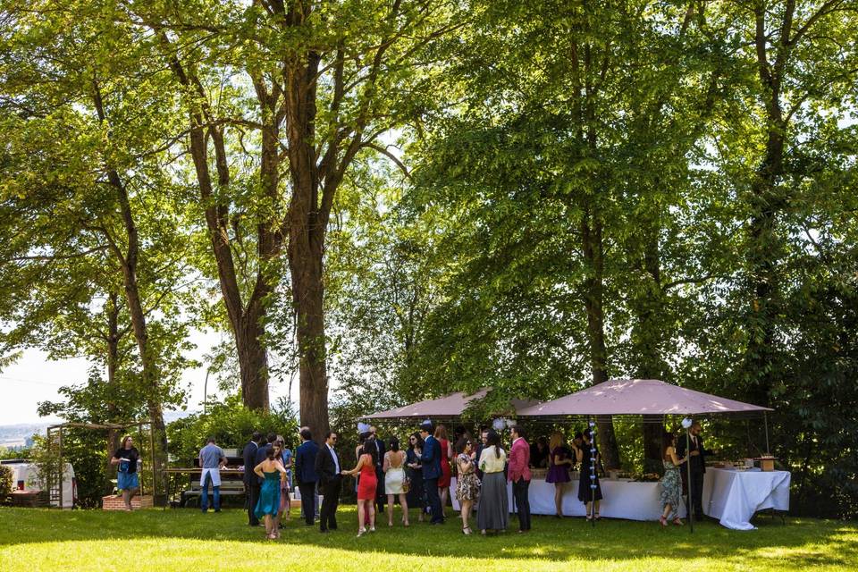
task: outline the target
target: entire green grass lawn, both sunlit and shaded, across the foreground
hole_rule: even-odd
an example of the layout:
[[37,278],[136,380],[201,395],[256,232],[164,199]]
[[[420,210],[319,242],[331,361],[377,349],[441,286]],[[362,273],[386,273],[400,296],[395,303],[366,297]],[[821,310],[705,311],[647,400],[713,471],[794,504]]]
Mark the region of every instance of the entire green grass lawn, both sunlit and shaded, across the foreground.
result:
[[[416,516],[416,515],[415,515]],[[355,508],[340,530],[319,534],[292,520],[279,541],[246,525],[243,511],[134,513],[0,509],[0,570],[855,570],[858,523],[758,517],[758,530],[715,522],[660,530],[658,523],[534,517],[531,534],[464,536],[457,520],[413,522],[356,538]],[[416,518],[413,518],[416,520]],[[515,529],[513,517],[511,528]],[[562,568],[561,568],[562,567]]]

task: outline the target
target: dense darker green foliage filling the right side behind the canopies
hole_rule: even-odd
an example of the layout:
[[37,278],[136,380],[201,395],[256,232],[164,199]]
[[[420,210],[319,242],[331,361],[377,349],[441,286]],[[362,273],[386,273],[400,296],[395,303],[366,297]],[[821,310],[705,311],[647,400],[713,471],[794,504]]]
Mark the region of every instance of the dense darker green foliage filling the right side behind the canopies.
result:
[[[349,386],[343,414],[415,391],[491,385],[481,405],[493,408],[588,383],[603,356],[582,237],[598,228],[608,373],[770,405],[795,511],[854,516],[858,28],[847,4],[470,3],[461,33],[434,47],[445,67],[408,139],[412,184],[378,209],[389,234],[425,228],[416,276],[431,279],[402,281],[400,260],[353,274],[338,304],[366,330],[341,347],[374,348],[355,353],[390,367]],[[761,79],[766,66],[777,86]],[[391,259],[390,242],[360,244],[377,253],[367,260]],[[394,305],[377,295],[386,283],[431,293],[408,347],[415,330],[385,317]],[[707,427],[727,458],[765,452],[761,420]],[[640,427],[617,433],[624,465],[640,467]]]

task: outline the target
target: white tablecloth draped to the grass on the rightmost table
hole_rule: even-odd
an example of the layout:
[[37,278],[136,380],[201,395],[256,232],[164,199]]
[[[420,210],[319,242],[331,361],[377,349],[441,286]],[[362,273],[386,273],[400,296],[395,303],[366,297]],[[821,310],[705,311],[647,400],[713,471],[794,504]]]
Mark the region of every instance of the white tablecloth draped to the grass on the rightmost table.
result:
[[762,509],[789,510],[787,471],[734,471],[707,468],[703,478],[703,513],[721,525],[753,530],[749,521]]

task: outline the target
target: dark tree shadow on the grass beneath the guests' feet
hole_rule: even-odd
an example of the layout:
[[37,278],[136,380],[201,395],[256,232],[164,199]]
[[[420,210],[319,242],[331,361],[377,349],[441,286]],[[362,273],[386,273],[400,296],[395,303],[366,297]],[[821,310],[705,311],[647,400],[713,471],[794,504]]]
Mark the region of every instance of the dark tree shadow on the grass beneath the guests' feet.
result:
[[[458,516],[458,515],[457,515]],[[756,531],[739,532],[706,520],[695,526],[671,526],[662,530],[658,523],[602,519],[596,526],[583,518],[534,517],[529,534],[516,534],[517,519],[510,519],[510,531],[482,537],[461,533],[458,518],[449,518],[444,526],[416,522],[388,529],[384,517],[377,522],[378,532],[356,538],[357,517],[353,506],[339,513],[339,530],[320,534],[316,526],[305,526],[294,518],[282,531],[280,544],[315,545],[347,551],[384,551],[394,554],[460,558],[462,556],[495,559],[571,558],[628,560],[641,558],[698,559],[714,558],[731,564],[753,559],[772,559],[774,566],[858,564],[858,543],[849,538],[858,534],[853,523],[810,519],[760,520]],[[46,509],[0,509],[0,546],[20,543],[97,541],[145,538],[183,538],[199,541],[231,541],[271,545],[263,528],[247,526],[247,515],[240,510],[220,514],[200,514],[194,509],[143,510],[131,514],[102,511],[57,511]],[[472,526],[475,526],[472,520]],[[784,550],[787,549],[787,550]]]

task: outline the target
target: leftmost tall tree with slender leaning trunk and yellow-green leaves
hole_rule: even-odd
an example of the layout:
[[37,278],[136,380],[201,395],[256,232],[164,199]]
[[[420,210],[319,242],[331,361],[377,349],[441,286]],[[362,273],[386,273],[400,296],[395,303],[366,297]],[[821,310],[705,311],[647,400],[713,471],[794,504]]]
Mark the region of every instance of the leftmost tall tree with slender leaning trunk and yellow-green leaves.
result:
[[[171,101],[136,65],[146,39],[123,44],[128,30],[117,29],[99,6],[31,4],[10,18],[14,31],[4,36],[4,54],[16,65],[5,66],[3,77],[11,112],[4,125],[10,159],[4,201],[19,216],[13,244],[21,249],[12,258],[50,266],[66,257],[109,255],[107,267],[119,280],[101,291],[109,297],[122,284],[139,385],[156,434],[156,468],[162,467],[164,404],[178,396],[175,378],[164,372],[174,349],[171,336],[161,334],[171,328],[158,322],[176,324],[178,308],[171,305],[183,284],[181,207],[164,192],[170,187],[159,162],[170,122],[156,110],[169,109]],[[76,137],[67,137],[70,132]],[[96,277],[76,276],[72,283]],[[38,284],[30,284],[33,289]],[[156,313],[164,318],[153,320]],[[181,337],[181,327],[172,329]]]

